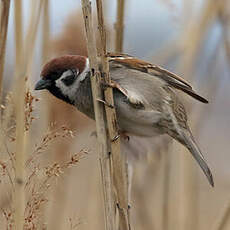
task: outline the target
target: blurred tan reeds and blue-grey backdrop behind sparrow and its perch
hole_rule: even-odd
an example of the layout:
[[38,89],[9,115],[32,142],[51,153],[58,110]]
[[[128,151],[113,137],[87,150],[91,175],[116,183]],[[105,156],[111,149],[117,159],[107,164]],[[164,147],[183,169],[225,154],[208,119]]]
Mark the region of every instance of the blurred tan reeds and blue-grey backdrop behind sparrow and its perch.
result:
[[[123,16],[116,0],[104,4],[108,46],[122,50],[115,22]],[[101,230],[95,124],[33,91],[48,59],[87,54],[80,1],[1,0],[0,6],[0,229]],[[134,167],[133,229],[230,228],[229,12],[227,0],[125,1],[123,52],[182,75],[208,98],[208,105],[183,100],[215,180],[211,188],[169,138],[131,140],[138,143],[133,151],[148,152]]]

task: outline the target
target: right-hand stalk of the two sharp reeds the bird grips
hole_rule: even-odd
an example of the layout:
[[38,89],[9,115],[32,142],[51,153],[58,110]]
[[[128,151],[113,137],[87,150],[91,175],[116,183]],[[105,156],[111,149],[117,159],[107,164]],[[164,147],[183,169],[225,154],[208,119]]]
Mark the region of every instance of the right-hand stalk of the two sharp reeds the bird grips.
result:
[[[106,57],[106,31],[104,26],[104,16],[102,1],[97,0],[97,16],[98,16],[98,28],[100,34],[100,57],[102,63],[101,76],[107,84],[111,84],[111,79],[109,75],[109,63]],[[123,37],[121,37],[123,40]],[[122,47],[120,47],[122,49]],[[114,106],[113,100],[113,90],[112,88],[107,88],[104,91],[105,101]],[[117,117],[115,108],[105,107],[106,118],[109,130],[109,138],[112,140],[118,135],[117,127]],[[118,212],[119,212],[119,229],[126,230],[130,229],[129,218],[128,218],[128,188],[127,188],[127,169],[126,169],[126,159],[124,155],[121,155],[120,151],[120,139],[116,141],[111,141],[111,153],[112,153],[112,167],[114,176],[114,188],[116,189],[117,201],[118,201]]]

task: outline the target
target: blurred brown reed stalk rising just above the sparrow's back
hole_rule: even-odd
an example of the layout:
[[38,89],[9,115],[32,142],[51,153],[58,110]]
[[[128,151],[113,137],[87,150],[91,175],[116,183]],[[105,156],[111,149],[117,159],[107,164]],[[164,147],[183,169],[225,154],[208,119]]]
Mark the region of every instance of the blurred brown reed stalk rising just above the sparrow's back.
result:
[[117,19],[115,23],[115,51],[123,51],[125,0],[117,0]]

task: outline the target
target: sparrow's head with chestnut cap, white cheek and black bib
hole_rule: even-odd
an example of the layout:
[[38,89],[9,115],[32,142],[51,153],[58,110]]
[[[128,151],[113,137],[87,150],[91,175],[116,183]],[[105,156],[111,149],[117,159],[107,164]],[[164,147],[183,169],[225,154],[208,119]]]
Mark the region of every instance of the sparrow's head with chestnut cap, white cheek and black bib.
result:
[[59,99],[74,104],[80,83],[89,73],[89,61],[84,56],[65,55],[54,58],[43,67],[35,90],[47,89]]

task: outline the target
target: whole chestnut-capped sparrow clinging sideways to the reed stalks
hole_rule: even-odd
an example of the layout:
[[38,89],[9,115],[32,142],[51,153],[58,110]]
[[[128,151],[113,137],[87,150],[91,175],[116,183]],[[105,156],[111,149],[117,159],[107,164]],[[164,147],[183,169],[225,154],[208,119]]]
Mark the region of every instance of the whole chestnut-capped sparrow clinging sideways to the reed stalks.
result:
[[[177,90],[202,103],[208,101],[183,78],[157,65],[127,54],[108,53],[107,58],[111,77],[108,87],[113,88],[119,131],[142,137],[169,135],[190,151],[214,186],[212,173],[188,126]],[[90,77],[87,57],[64,55],[44,65],[35,90],[46,89],[95,119]]]

